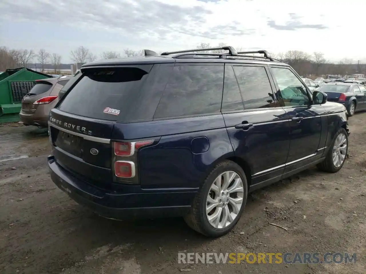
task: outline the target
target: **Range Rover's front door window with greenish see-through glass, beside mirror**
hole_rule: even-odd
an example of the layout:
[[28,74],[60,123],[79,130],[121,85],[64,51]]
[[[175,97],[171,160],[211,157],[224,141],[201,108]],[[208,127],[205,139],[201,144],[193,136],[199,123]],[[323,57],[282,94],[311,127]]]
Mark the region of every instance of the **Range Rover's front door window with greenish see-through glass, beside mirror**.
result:
[[283,106],[307,106],[310,104],[306,87],[288,68],[270,68],[279,86]]

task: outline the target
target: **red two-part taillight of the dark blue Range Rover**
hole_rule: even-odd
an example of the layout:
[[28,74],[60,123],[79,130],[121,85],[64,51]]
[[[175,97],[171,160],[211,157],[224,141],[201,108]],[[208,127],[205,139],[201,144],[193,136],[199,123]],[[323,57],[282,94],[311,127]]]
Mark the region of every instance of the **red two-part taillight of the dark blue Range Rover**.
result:
[[137,152],[144,146],[152,145],[154,140],[138,142],[113,142],[112,163],[115,181],[138,184]]

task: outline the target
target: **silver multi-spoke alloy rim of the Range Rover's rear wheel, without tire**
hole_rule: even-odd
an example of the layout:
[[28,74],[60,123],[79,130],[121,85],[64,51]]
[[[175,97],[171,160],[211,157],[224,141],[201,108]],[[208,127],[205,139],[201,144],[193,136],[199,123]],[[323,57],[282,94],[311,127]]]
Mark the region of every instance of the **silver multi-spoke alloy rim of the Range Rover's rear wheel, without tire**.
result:
[[214,180],[206,200],[210,225],[223,229],[234,222],[243,205],[243,180],[234,171],[225,171]]

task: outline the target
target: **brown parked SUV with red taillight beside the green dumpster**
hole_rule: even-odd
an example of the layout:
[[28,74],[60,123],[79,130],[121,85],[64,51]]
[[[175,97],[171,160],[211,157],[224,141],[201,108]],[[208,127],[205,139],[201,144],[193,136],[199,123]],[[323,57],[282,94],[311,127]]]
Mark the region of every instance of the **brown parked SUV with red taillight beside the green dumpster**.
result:
[[26,126],[47,128],[49,111],[55,107],[61,88],[70,78],[70,76],[61,76],[36,80],[36,85],[22,99],[20,121]]

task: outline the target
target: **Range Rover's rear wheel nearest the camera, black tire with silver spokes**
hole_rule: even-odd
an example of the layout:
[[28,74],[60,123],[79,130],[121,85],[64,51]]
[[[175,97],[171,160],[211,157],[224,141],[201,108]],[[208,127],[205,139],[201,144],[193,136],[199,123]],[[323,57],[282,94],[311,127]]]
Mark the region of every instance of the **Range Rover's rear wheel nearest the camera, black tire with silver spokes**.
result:
[[[222,180],[222,186],[224,186],[225,181],[229,182],[228,187],[226,188],[224,187],[224,189],[226,190],[222,191],[220,190],[221,195],[218,195],[219,192],[212,190],[213,184],[215,185],[218,184],[216,179],[219,178],[219,176],[221,177]],[[232,176],[235,176],[235,178],[231,182],[230,180],[223,180],[223,178],[232,178]],[[241,184],[240,181],[237,179],[241,180]],[[240,186],[238,188],[238,191],[232,191],[234,189],[235,183],[238,183],[237,186]],[[219,190],[218,188],[216,189]],[[222,194],[223,191],[224,192],[232,191],[232,193],[230,194],[227,192]],[[209,213],[206,214],[206,207],[208,206],[209,203],[208,199],[210,199],[209,195],[212,198],[212,201],[216,202],[220,201],[220,203],[214,208],[212,208],[212,210]],[[238,201],[241,201],[240,198],[242,198],[242,203],[239,210],[235,210],[235,208],[237,209],[237,207],[234,208],[232,206],[232,204],[239,205],[239,203],[233,202],[232,199],[230,198],[228,199],[228,195],[229,197],[235,198]],[[199,191],[199,193],[197,193],[197,195],[194,198],[190,212],[187,214],[187,216],[184,217],[184,220],[186,221],[189,227],[205,236],[208,237],[223,236],[227,234],[229,231],[231,231],[231,229],[239,221],[240,216],[246,205],[247,195],[248,195],[248,184],[243,169],[233,161],[225,160],[217,164],[210,172],[210,174],[206,177],[201,187],[201,190]],[[214,206],[214,204],[211,203],[209,203],[209,205]],[[229,214],[227,210],[229,210]],[[219,221],[217,221],[217,218],[214,218],[214,216],[216,216],[218,212],[220,213],[219,217],[217,217]],[[225,223],[224,221],[222,221],[225,216],[230,217],[231,220],[230,218],[228,218],[228,221]],[[210,223],[209,217],[212,217],[213,220],[216,220],[217,222],[219,222],[219,224],[216,227],[214,227],[214,224]],[[217,224],[217,222],[215,223]]]

